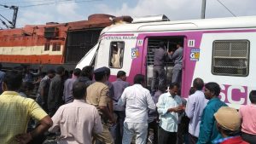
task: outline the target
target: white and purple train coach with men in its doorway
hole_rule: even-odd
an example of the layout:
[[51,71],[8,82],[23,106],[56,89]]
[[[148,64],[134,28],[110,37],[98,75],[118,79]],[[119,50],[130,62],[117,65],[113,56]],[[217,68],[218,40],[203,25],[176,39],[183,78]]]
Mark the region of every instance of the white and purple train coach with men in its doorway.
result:
[[[154,62],[151,49],[164,41],[170,51],[181,42],[183,97],[189,96],[193,80],[202,78],[205,83],[220,84],[220,98],[230,107],[239,108],[250,102],[248,94],[256,89],[256,16],[181,21],[160,18],[163,19],[148,18],[106,27],[95,48],[77,67],[108,66],[110,80],[122,70],[131,84],[134,76],[141,73],[146,75],[149,86]],[[172,66],[172,62],[166,64],[168,80]]]

